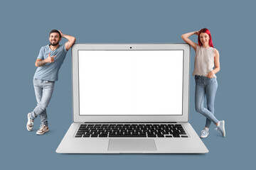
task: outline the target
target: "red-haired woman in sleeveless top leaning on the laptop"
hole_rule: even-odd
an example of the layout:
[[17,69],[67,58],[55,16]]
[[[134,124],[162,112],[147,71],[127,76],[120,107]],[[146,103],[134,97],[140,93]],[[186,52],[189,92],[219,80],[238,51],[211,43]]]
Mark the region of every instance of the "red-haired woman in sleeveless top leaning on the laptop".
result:
[[[191,35],[198,35],[198,44],[189,39]],[[215,74],[220,71],[220,55],[213,48],[210,30],[203,28],[199,31],[186,33],[181,38],[193,47],[196,52],[193,76],[196,80],[195,105],[196,111],[206,117],[206,127],[201,131],[200,137],[209,135],[210,123],[213,122],[223,137],[225,137],[225,122],[214,116],[215,94],[218,88]],[[203,106],[206,98],[207,108]]]

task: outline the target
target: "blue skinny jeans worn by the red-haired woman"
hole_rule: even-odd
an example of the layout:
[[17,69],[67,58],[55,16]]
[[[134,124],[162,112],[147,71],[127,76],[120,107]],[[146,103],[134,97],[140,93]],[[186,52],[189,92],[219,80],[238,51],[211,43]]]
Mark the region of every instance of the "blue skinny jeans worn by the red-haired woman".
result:
[[[202,76],[195,76],[196,79],[196,92],[195,92],[195,105],[196,111],[206,116],[206,127],[210,127],[210,122],[218,123],[214,116],[214,100],[218,88],[217,79]],[[204,108],[203,103],[206,98],[207,108]]]

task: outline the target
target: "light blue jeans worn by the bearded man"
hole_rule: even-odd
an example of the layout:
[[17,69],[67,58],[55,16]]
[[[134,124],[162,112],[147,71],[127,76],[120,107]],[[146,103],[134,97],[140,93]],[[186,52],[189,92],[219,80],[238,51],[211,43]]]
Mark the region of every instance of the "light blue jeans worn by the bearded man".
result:
[[53,94],[54,81],[46,81],[41,79],[33,79],[33,86],[36,94],[37,106],[31,112],[31,119],[34,120],[40,115],[41,125],[48,126],[46,108]]

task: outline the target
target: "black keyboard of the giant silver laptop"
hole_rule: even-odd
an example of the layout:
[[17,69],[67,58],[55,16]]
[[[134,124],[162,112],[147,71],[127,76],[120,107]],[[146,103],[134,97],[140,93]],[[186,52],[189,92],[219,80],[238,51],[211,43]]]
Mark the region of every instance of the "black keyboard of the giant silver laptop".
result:
[[188,137],[180,124],[82,124],[75,137]]

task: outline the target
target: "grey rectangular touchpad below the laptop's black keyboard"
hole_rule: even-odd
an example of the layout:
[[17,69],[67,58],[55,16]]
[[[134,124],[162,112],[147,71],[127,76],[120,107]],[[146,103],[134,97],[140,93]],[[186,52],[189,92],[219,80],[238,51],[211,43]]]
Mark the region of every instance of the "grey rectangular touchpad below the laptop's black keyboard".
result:
[[109,151],[155,151],[152,139],[110,139]]

